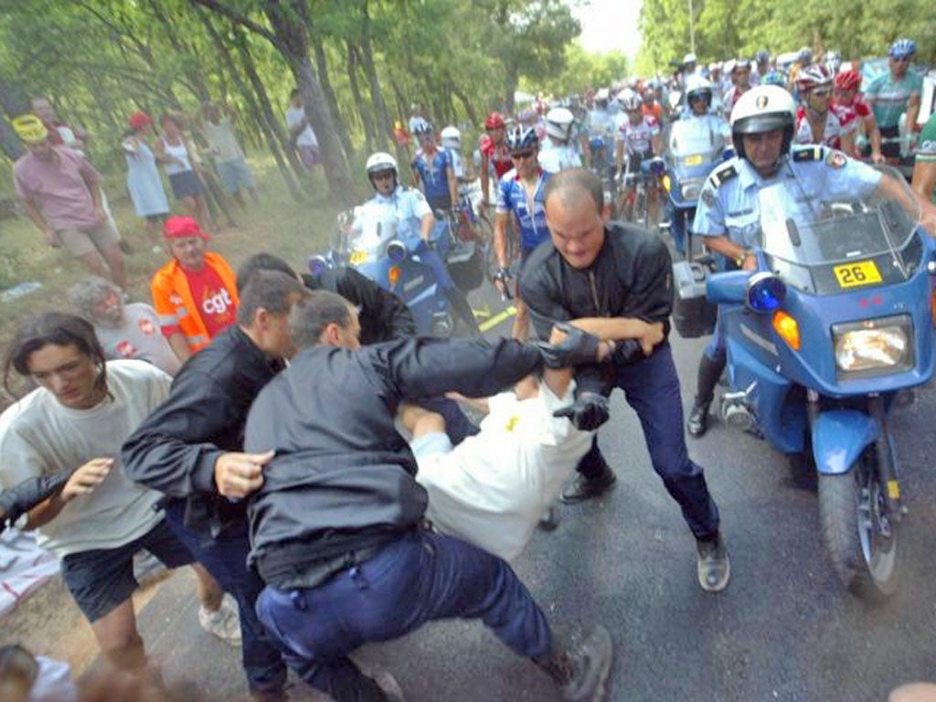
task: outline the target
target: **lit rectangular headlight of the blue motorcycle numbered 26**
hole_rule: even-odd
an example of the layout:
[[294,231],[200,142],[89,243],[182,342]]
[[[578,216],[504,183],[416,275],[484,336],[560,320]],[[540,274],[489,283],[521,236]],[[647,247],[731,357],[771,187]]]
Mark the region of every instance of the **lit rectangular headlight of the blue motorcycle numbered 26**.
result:
[[832,326],[841,376],[896,373],[914,366],[914,323],[909,314]]

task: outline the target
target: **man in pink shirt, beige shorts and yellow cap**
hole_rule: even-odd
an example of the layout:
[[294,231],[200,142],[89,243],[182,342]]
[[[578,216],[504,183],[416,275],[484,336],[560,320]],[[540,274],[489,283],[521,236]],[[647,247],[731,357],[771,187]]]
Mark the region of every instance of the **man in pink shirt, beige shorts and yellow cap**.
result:
[[39,118],[25,114],[13,128],[28,149],[13,166],[13,181],[26,213],[53,247],[63,246],[95,275],[126,289],[120,236],[101,203],[101,174],[84,156],[55,146]]

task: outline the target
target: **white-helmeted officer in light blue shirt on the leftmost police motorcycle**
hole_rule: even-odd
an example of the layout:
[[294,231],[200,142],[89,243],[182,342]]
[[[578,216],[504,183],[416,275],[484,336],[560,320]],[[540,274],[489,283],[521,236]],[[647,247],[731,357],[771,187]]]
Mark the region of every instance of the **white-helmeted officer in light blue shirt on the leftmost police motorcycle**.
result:
[[[472,331],[477,330],[475,313],[448,274],[442,256],[431,246],[435,217],[426,198],[418,190],[404,188],[399,183],[400,168],[390,154],[371,154],[365,164],[367,177],[373,185],[374,196],[356,212],[354,229],[360,233],[365,222],[392,223],[397,227],[407,248],[415,250],[419,258],[432,269],[435,279],[445,294],[452,310]],[[415,234],[418,229],[418,240]],[[415,245],[409,245],[413,241]]]

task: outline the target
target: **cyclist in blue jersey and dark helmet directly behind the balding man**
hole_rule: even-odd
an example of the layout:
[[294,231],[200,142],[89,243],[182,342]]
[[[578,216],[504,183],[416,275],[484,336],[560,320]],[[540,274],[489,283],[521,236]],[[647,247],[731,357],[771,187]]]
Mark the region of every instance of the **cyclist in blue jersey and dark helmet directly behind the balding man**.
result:
[[[520,269],[523,271],[527,256],[543,241],[548,241],[546,211],[543,208],[543,187],[549,174],[540,168],[539,139],[531,126],[519,125],[507,134],[507,147],[514,161],[513,170],[508,171],[497,187],[497,218],[494,220],[494,254],[501,270],[497,272],[495,285],[502,294],[510,285],[510,258],[507,253],[507,223],[513,215],[519,230]],[[519,286],[518,286],[519,287]],[[525,340],[530,329],[530,317],[526,305],[516,296],[517,315],[514,317],[512,336]]]

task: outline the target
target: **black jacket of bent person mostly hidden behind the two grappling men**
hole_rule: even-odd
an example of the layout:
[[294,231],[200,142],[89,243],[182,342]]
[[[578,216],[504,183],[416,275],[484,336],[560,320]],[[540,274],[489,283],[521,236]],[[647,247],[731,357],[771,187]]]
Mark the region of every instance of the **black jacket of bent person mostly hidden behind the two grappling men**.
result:
[[361,344],[416,336],[416,321],[406,303],[353,268],[329,269],[318,275],[304,273],[302,282],[310,290],[338,293],[358,307]]

